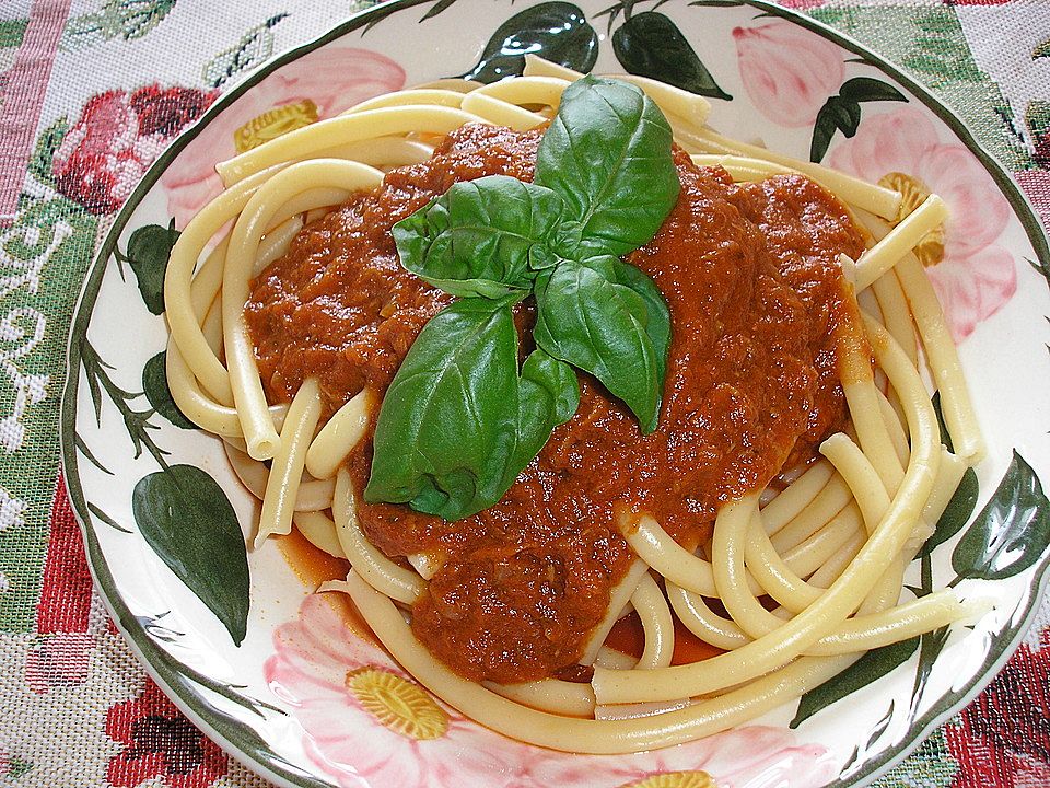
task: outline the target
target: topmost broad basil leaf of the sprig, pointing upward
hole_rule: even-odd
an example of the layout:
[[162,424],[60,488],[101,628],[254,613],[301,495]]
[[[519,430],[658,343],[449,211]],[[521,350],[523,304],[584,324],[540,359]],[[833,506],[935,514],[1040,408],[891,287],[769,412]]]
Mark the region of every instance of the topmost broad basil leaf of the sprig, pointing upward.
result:
[[539,143],[535,183],[557,192],[580,222],[563,257],[625,255],[648,243],[678,198],[672,131],[634,85],[584,77],[562,95]]

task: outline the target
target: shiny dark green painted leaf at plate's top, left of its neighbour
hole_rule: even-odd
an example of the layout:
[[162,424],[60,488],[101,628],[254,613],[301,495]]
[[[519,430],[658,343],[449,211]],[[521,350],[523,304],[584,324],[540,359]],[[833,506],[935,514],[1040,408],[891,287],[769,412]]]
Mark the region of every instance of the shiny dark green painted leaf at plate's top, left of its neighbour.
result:
[[598,59],[598,34],[576,5],[540,3],[500,25],[489,38],[478,65],[463,78],[489,83],[520,77],[525,70],[525,55],[539,55],[586,73]]

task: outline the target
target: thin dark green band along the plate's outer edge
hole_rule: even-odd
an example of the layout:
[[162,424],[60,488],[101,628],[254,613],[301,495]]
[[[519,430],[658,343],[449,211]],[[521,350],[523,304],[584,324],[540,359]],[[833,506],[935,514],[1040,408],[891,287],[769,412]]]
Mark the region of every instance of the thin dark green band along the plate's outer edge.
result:
[[[226,752],[243,761],[252,769],[282,786],[293,788],[324,788],[330,784],[301,768],[288,763],[278,756],[268,743],[259,737],[250,726],[223,714],[208,699],[208,696],[194,676],[188,675],[184,665],[161,648],[145,631],[143,625],[128,609],[121,596],[114,576],[106,563],[105,555],[94,533],[92,514],[78,474],[78,457],[75,447],[77,399],[80,389],[79,371],[82,366],[82,356],[77,339],[84,336],[97,299],[102,277],[107,268],[108,260],[116,248],[120,233],[127,227],[132,213],[142,198],[153,188],[171,162],[192,141],[200,131],[215,117],[223,113],[233,102],[245,92],[258,84],[267,76],[282,66],[324,47],[328,43],[372,25],[387,16],[431,0],[389,0],[380,5],[365,9],[348,16],[342,23],[331,27],[327,33],[306,42],[298,47],[272,57],[241,80],[234,88],[220,96],[211,107],[191,126],[185,129],[150,166],[142,179],[136,186],[128,200],[121,207],[113,225],[106,233],[98,254],[91,264],[83,288],[78,299],[74,317],[70,327],[67,344],[67,376],[62,391],[60,410],[60,440],[61,461],[70,501],[77,521],[84,535],[89,557],[89,567],[95,586],[100,591],[107,610],[113,616],[117,628],[130,645],[136,658],[162,687],[164,693],[175,705],[186,714],[195,725],[202,728],[207,734],[215,740]],[[860,44],[848,35],[832,27],[805,16],[797,11],[768,2],[767,0],[731,0],[730,3],[721,0],[699,0],[693,5],[749,5],[762,12],[763,15],[788,20],[838,45],[844,50],[858,55],[871,66],[891,77],[903,85],[923,106],[935,114],[959,139],[966,148],[980,161],[984,170],[991,175],[999,190],[1008,201],[1014,216],[1025,230],[1043,267],[1050,266],[1050,241],[1047,231],[1041,227],[1027,196],[1020,190],[1007,171],[992,157],[991,153],[975,138],[966,123],[926,88],[913,80],[892,61],[876,54],[868,47]],[[1050,280],[1048,280],[1050,282]],[[1038,609],[1039,600],[1047,591],[1050,581],[1050,553],[1031,568],[1032,576],[1029,596],[1023,615],[1014,617],[1014,625],[1006,627],[996,638],[985,659],[976,671],[972,679],[952,695],[945,695],[934,704],[922,717],[914,719],[909,727],[908,734],[898,743],[883,750],[878,755],[865,762],[864,766],[849,777],[848,784],[867,785],[878,775],[887,772],[894,765],[905,760],[921,742],[938,726],[944,723],[955,712],[970,703],[987,686],[1004,667],[1010,656],[1018,648],[1025,631],[1028,629]]]

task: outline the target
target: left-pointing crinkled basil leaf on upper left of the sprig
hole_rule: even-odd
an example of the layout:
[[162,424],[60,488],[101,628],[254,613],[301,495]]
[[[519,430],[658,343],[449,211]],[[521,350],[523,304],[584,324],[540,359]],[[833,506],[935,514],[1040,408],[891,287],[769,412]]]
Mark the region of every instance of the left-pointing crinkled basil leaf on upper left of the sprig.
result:
[[401,265],[462,298],[502,298],[532,287],[529,260],[557,233],[565,210],[555,192],[505,175],[457,183],[394,225]]

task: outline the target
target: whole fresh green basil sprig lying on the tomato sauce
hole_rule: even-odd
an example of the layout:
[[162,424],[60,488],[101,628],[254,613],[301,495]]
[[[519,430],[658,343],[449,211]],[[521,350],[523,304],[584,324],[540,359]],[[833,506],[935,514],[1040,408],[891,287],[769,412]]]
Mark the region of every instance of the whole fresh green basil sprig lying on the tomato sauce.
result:
[[[585,77],[562,95],[534,183],[457,183],[394,225],[401,264],[459,301],[420,333],[386,392],[365,500],[445,520],[495,503],[580,401],[590,372],[656,428],[667,304],[620,259],[678,198],[672,131],[638,88]],[[536,297],[518,368],[512,309]]]

